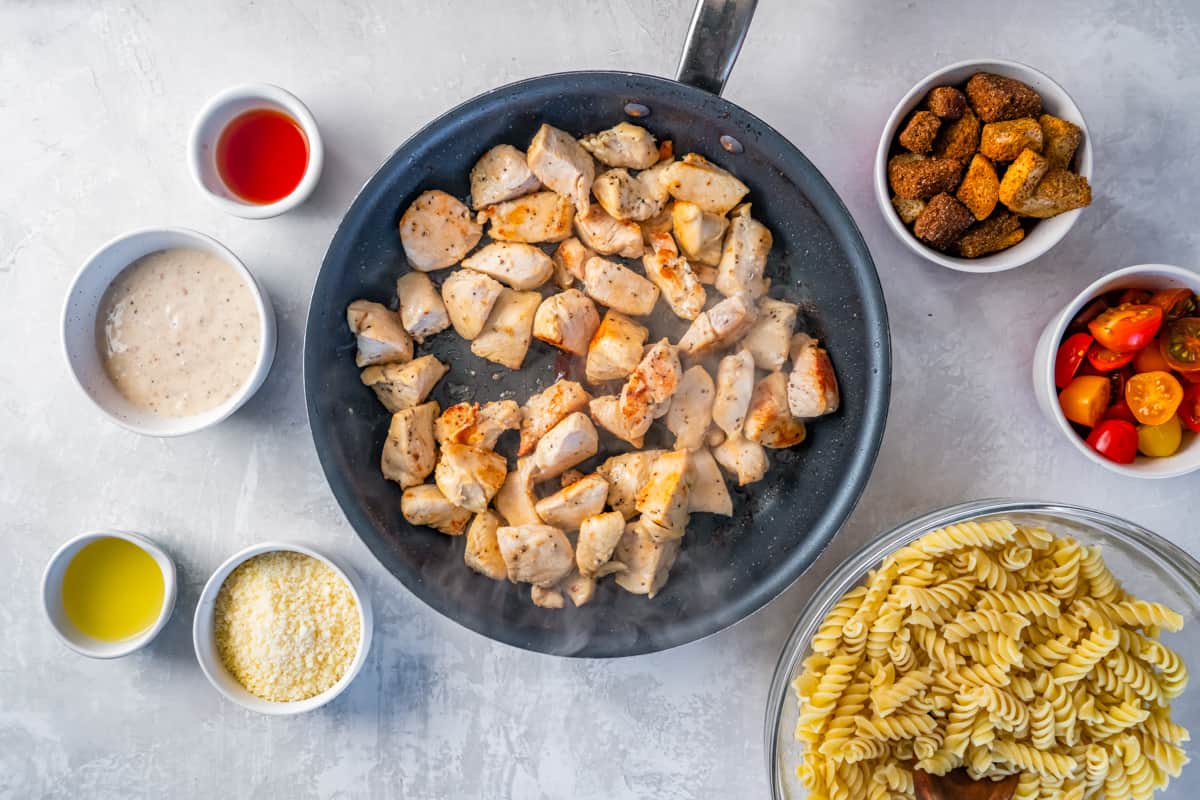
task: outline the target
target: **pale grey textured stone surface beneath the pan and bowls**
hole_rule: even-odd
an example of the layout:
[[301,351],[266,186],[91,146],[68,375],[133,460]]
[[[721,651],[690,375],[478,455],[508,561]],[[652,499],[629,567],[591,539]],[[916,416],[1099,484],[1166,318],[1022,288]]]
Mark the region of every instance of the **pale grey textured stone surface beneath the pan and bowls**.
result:
[[[1198,261],[1200,5],[806,0],[761,4],[726,94],[824,172],[887,291],[890,422],[846,529],[752,619],[618,662],[492,644],[377,565],[320,476],[300,384],[307,297],[337,219],[400,142],[480,91],[586,67],[670,74],[690,13],[689,0],[0,0],[0,796],[761,796],[779,648],[816,583],[877,531],[940,505],[1027,495],[1124,515],[1200,553],[1200,476],[1132,483],[1090,465],[1038,414],[1028,378],[1037,332],[1086,283]],[[917,79],[986,56],[1038,66],[1073,94],[1096,148],[1096,203],[1039,261],[967,276],[892,239],[870,163]],[[325,137],[314,198],[283,218],[223,216],[186,170],[192,116],[246,80],[295,91]],[[250,264],[275,302],[280,350],[232,420],[158,441],[86,403],[58,319],[88,253],[163,224],[205,230]],[[164,633],[115,662],[64,648],[37,597],[54,548],[104,525],[155,536],[181,571]],[[222,702],[192,656],[203,581],[269,537],[344,555],[376,604],[366,669],[300,718]]]

